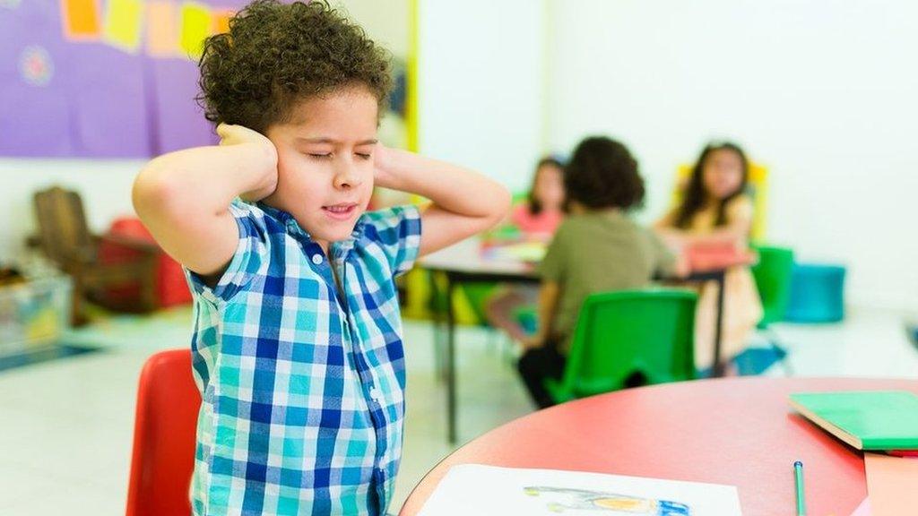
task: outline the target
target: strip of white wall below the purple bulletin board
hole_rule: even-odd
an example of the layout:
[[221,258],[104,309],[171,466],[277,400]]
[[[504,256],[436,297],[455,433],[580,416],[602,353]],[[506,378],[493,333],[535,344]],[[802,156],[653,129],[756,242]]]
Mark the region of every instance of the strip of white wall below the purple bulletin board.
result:
[[101,232],[113,220],[133,215],[130,187],[140,160],[51,160],[0,158],[0,263],[17,259],[36,231],[32,195],[50,185],[83,197],[87,223]]

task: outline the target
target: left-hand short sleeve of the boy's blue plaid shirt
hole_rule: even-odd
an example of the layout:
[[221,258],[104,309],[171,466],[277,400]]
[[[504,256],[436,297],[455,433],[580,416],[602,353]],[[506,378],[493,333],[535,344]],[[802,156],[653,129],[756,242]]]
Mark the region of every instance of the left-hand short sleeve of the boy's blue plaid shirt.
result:
[[211,288],[196,273],[185,269],[188,284],[199,296],[211,301],[228,301],[252,282],[252,278],[263,274],[270,255],[270,239],[264,212],[251,204],[236,199],[229,205],[229,213],[239,228],[239,245],[220,276],[217,285]]

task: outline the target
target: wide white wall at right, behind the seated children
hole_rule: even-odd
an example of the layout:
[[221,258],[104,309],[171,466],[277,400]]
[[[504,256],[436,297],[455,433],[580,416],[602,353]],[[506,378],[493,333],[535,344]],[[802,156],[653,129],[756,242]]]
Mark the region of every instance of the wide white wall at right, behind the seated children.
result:
[[653,219],[677,163],[738,140],[770,168],[769,240],[847,264],[849,301],[918,307],[918,3],[549,1],[552,144],[621,138]]

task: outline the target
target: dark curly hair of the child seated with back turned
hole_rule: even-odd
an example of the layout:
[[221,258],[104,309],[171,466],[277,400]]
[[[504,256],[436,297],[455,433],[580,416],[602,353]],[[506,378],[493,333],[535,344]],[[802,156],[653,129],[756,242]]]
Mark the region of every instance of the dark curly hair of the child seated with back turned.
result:
[[644,202],[644,178],[628,148],[606,137],[580,142],[565,167],[568,201],[584,208],[629,209]]

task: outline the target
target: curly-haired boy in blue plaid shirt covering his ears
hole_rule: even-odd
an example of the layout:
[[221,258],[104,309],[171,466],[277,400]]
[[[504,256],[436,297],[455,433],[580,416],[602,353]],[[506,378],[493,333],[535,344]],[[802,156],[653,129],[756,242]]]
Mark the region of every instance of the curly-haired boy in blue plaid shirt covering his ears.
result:
[[[386,55],[325,2],[256,0],[200,67],[220,145],[134,185],[195,295],[194,511],[383,514],[404,416],[394,276],[492,226],[509,193],[376,141]],[[432,205],[364,213],[374,185]]]

